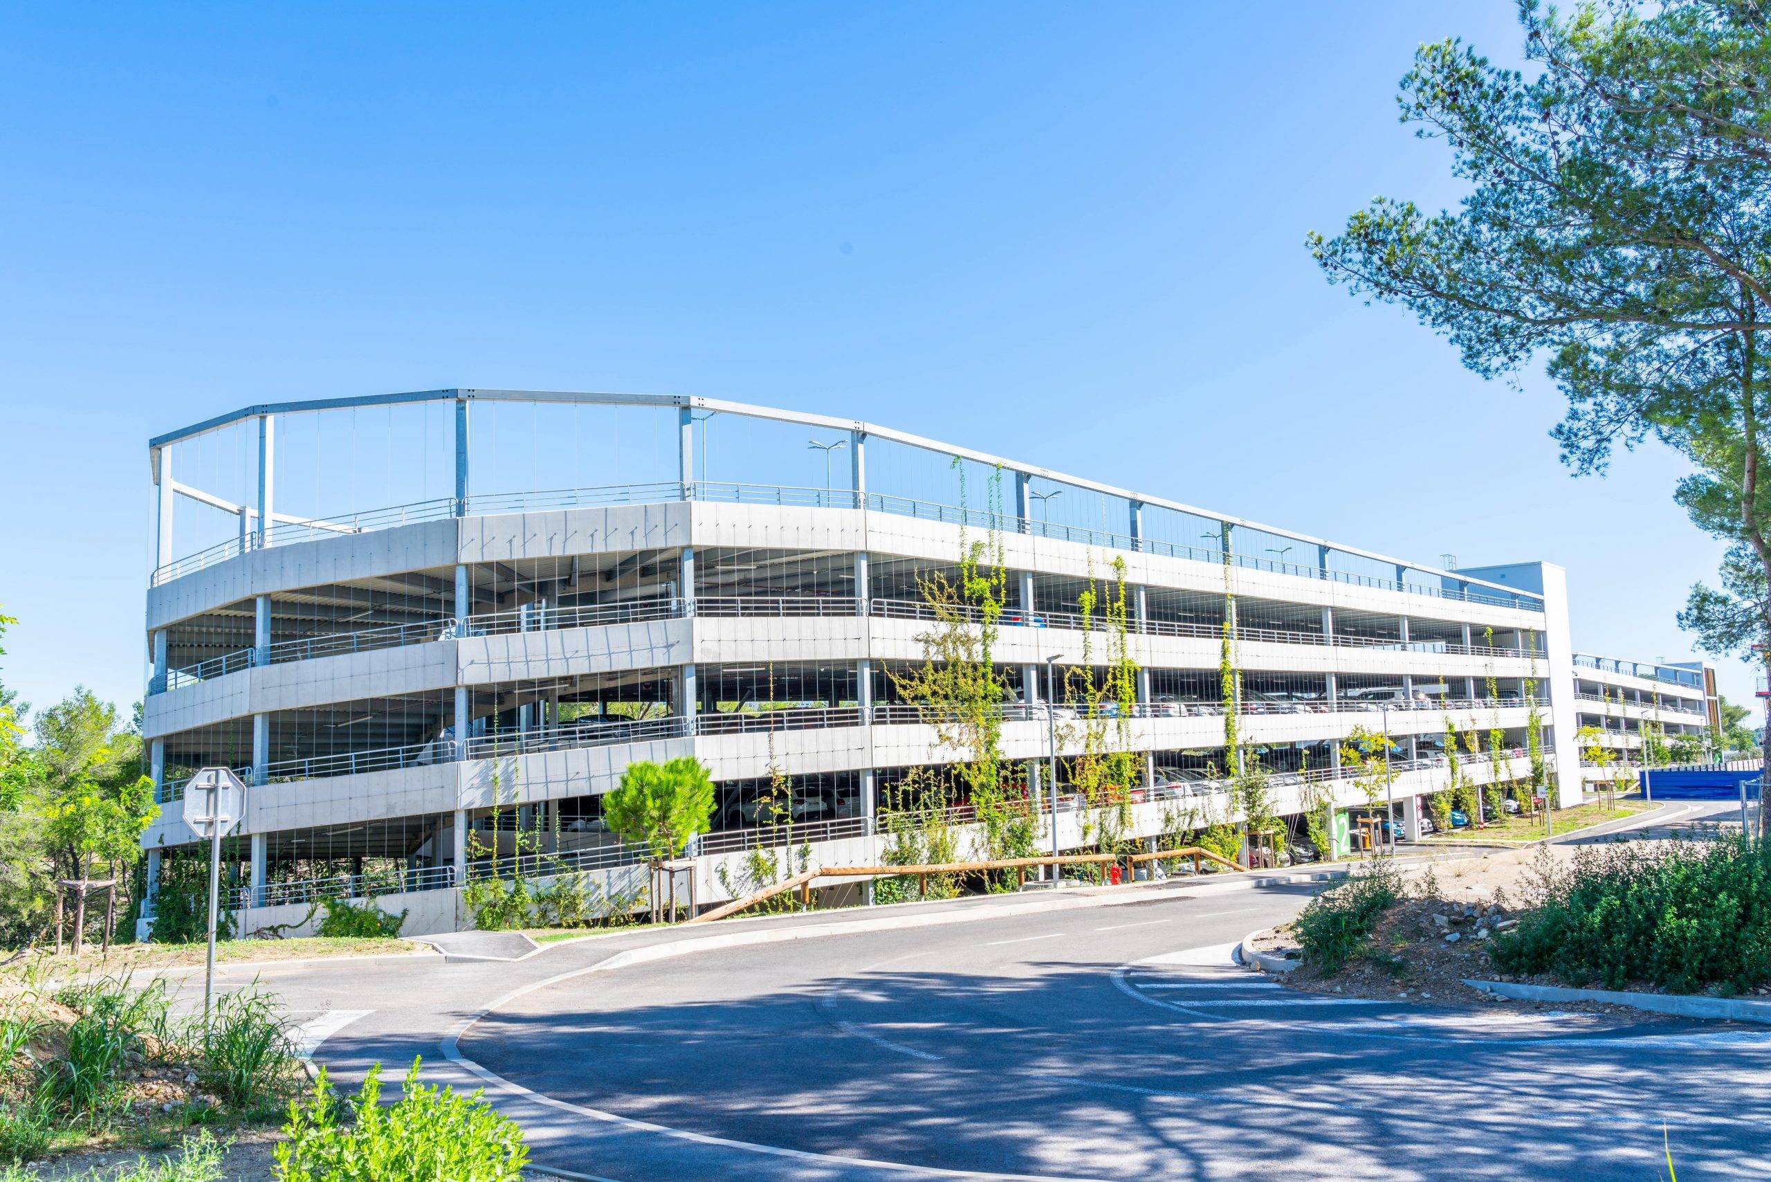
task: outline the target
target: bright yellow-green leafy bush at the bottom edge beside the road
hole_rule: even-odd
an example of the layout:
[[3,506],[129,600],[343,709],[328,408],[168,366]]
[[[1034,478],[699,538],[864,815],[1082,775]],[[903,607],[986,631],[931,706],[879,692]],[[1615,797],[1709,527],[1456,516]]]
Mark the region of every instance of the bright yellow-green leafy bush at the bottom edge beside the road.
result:
[[413,1060],[400,1100],[386,1106],[379,1063],[349,1106],[338,1104],[322,1070],[312,1102],[289,1104],[289,1139],[276,1147],[280,1182],[515,1182],[528,1159],[515,1122],[480,1092],[427,1088],[418,1065]]

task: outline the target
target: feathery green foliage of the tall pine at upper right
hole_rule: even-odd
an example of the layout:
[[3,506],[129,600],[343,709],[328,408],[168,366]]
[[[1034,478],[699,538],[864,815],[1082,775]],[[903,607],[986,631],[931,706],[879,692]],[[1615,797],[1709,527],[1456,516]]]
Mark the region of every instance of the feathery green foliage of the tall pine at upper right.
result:
[[1690,461],[1675,498],[1732,548],[1723,587],[1693,590],[1681,618],[1718,650],[1771,640],[1766,7],[1520,0],[1520,23],[1527,71],[1447,39],[1401,83],[1403,121],[1468,183],[1461,206],[1380,197],[1309,246],[1330,282],[1404,305],[1477,374],[1543,360],[1578,473],[1643,439]]

